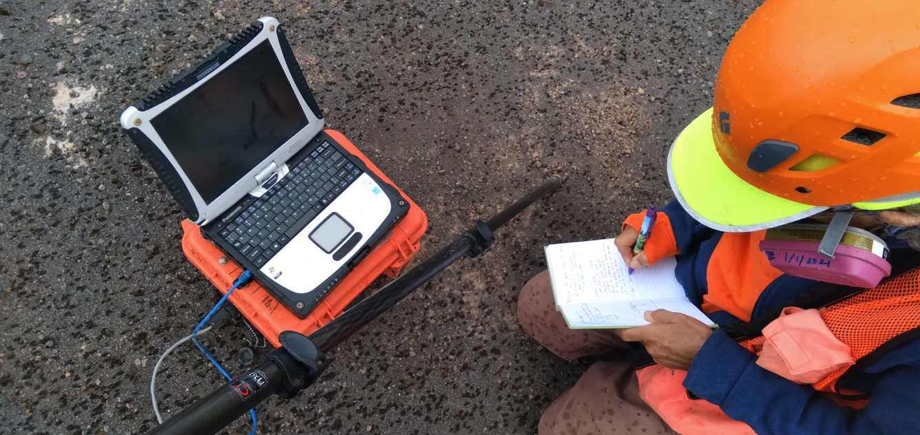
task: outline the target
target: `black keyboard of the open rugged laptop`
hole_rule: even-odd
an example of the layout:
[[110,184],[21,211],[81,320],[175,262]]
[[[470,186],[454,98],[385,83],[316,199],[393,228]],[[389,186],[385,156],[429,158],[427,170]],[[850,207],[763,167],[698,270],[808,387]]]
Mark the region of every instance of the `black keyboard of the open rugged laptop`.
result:
[[323,142],[247,210],[237,213],[220,235],[261,268],[361,174],[345,155]]

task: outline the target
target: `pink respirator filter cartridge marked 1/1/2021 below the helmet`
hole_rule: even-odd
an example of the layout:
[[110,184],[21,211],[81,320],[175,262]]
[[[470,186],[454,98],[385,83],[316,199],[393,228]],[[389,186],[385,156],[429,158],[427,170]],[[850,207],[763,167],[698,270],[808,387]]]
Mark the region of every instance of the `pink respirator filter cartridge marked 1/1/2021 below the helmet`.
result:
[[888,245],[877,235],[847,226],[834,258],[818,252],[828,225],[793,223],[766,230],[760,242],[770,265],[783,273],[852,287],[871,288],[891,274]]

